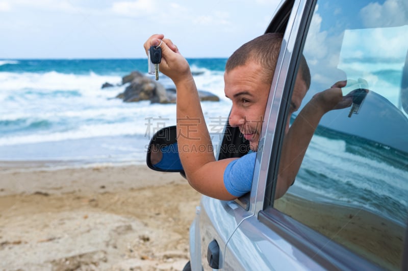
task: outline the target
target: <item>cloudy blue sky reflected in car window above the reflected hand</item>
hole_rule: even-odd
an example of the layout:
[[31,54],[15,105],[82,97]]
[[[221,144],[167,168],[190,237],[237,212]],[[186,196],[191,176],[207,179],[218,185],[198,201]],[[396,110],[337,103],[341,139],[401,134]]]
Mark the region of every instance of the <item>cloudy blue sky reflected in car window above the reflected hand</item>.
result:
[[408,1],[351,1],[318,1],[303,51],[312,74],[309,94],[345,76],[364,78],[371,90],[398,106]]

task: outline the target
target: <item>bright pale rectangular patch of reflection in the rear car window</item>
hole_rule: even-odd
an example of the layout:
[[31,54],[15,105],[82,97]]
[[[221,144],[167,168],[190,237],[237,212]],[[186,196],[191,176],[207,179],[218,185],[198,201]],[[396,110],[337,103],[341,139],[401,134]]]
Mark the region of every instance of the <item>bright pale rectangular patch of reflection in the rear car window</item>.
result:
[[346,30],[338,68],[347,79],[364,78],[368,88],[399,103],[408,25]]

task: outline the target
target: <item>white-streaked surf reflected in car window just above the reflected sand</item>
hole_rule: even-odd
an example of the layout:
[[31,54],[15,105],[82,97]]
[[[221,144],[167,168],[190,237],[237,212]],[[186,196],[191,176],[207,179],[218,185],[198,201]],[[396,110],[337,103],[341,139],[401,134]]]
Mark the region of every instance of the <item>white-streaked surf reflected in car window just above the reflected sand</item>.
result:
[[[303,160],[302,168],[313,169],[314,174],[327,176],[337,185],[343,184],[342,186],[345,187],[352,185],[358,191],[371,191],[380,197],[396,198],[400,204],[408,206],[404,196],[395,196],[396,194],[406,195],[408,193],[404,182],[406,179],[405,170],[372,157],[346,152],[345,142],[342,140],[314,136]],[[299,177],[299,184],[302,184],[303,189],[327,196],[327,190],[319,189],[316,185],[309,186],[307,180],[303,182],[301,176]],[[316,178],[316,180],[318,179]],[[343,196],[349,200],[349,197],[344,193],[347,192],[336,193],[337,196],[334,198]],[[342,199],[338,198],[338,200]]]

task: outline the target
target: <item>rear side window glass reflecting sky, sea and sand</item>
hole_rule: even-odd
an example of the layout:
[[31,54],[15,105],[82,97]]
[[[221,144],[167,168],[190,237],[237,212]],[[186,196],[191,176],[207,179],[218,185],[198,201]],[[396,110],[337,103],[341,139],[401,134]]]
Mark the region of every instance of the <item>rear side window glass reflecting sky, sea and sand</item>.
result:
[[356,9],[327,2],[317,2],[304,45],[312,82],[298,112],[339,80],[347,79],[344,96],[366,91],[323,115],[294,185],[273,207],[400,269],[408,218],[408,2],[354,1]]

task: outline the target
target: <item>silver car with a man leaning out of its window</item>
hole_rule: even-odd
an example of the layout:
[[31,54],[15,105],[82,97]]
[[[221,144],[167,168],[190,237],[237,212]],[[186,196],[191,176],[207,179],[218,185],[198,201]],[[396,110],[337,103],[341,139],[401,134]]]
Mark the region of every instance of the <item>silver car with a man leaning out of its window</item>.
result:
[[[202,196],[185,270],[408,270],[408,1],[282,1],[266,32],[284,41],[251,191],[232,201]],[[359,95],[321,118],[294,184],[276,198],[301,54],[311,86],[298,112],[340,80],[344,95]],[[171,144],[175,127],[151,140]],[[241,157],[246,144],[226,123],[217,158]],[[147,164],[183,173],[180,163],[153,166],[150,152]]]

